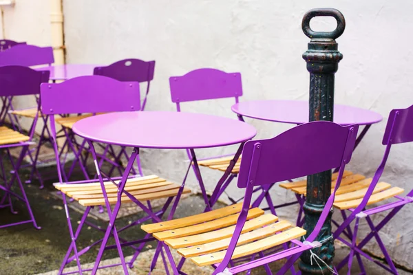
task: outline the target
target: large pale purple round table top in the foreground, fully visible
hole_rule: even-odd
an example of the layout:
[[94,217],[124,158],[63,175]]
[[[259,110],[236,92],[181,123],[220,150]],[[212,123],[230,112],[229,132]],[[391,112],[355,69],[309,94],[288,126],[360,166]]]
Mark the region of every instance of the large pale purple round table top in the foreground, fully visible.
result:
[[239,120],[201,113],[136,111],[79,120],[73,131],[87,140],[140,148],[208,148],[251,140],[257,131]]

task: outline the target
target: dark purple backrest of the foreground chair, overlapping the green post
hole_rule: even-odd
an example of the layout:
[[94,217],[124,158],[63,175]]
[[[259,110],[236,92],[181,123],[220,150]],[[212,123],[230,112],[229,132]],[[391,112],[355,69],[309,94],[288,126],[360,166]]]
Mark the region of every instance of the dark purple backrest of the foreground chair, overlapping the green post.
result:
[[350,162],[357,130],[357,125],[308,122],[269,140],[250,140],[242,151],[238,187],[273,184],[343,166]]

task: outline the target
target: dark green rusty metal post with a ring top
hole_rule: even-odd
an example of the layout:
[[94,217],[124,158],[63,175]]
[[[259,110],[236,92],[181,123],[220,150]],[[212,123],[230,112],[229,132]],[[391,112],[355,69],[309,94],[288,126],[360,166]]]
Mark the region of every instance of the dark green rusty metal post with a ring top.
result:
[[[334,17],[337,20],[337,28],[332,32],[314,32],[310,28],[310,20],[313,17]],[[311,39],[307,52],[303,54],[307,70],[310,72],[309,121],[332,121],[335,72],[339,67],[339,61],[343,58],[343,55],[337,50],[338,44],[335,39],[343,34],[345,27],[346,22],[343,14],[335,9],[319,8],[310,10],[304,15],[303,32]],[[309,146],[311,145],[309,144]],[[330,170],[308,176],[306,203],[304,204],[306,214],[304,228],[307,230],[307,236],[313,232],[330,193]],[[321,248],[313,249],[313,252],[328,265],[332,264],[334,257],[334,243],[332,238],[328,239],[331,236],[331,214],[317,237],[317,241],[322,243]],[[301,255],[299,269],[302,274],[331,274],[324,264],[321,264],[321,267],[320,269],[315,261],[311,265],[310,252]]]

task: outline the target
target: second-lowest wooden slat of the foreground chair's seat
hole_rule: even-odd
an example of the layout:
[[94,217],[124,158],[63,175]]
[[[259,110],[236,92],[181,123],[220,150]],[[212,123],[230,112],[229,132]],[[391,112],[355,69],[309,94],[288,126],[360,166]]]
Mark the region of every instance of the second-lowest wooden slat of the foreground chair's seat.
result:
[[[271,236],[279,231],[286,230],[290,228],[291,224],[288,221],[280,221],[279,223],[273,223],[264,228],[259,228],[257,230],[246,232],[240,236],[238,239],[237,246],[243,245],[245,243],[251,243],[259,239],[264,239],[267,236]],[[196,245],[191,248],[181,248],[178,253],[185,258],[200,256],[207,253],[213,253],[220,250],[227,249],[231,241],[231,236],[226,239],[219,241],[213,241],[211,243],[206,243],[203,245]]]

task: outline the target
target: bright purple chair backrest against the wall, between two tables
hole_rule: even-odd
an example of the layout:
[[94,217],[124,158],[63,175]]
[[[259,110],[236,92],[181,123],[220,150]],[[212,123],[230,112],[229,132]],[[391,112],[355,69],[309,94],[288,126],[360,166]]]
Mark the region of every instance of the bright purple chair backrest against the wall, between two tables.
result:
[[184,76],[169,78],[172,102],[235,98],[242,96],[240,73],[226,73],[219,69],[195,69]]

